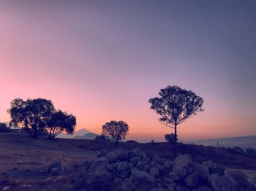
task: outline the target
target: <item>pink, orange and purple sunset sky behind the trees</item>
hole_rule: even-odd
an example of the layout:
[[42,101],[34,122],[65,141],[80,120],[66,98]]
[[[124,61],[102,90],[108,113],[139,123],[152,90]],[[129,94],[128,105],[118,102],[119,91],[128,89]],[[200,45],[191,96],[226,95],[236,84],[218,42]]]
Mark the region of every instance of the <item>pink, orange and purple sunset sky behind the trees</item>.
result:
[[0,1],[0,121],[14,98],[48,98],[100,133],[163,140],[148,99],[167,85],[205,111],[182,140],[256,134],[256,1]]

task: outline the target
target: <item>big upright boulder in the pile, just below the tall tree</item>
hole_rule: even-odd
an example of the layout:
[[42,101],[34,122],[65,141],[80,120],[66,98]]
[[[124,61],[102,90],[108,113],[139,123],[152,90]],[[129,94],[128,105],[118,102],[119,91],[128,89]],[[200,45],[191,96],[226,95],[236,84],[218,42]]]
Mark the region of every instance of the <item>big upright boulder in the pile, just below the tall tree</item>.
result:
[[192,159],[190,155],[178,155],[173,163],[173,172],[184,178],[192,173]]

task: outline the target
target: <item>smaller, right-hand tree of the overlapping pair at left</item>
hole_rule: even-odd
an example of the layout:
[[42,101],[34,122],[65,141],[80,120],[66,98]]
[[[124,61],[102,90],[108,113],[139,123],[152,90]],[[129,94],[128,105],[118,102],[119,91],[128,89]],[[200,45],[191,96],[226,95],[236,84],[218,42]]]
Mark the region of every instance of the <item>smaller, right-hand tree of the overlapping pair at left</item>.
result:
[[75,125],[76,118],[74,115],[61,112],[61,110],[53,112],[47,125],[48,139],[54,139],[63,131],[67,134],[74,133]]

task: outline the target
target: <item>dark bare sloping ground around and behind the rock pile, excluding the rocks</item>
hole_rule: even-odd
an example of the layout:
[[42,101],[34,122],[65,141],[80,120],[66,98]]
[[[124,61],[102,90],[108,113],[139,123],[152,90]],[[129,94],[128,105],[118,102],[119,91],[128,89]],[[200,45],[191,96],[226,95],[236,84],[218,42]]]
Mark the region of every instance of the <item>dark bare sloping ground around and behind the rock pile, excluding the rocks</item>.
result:
[[[49,141],[31,139],[29,136],[12,133],[0,133],[0,144],[0,188],[11,185],[12,190],[58,190],[59,187],[64,187],[67,184],[64,179],[67,179],[65,177],[69,177],[69,175],[42,175],[46,166],[60,162],[62,168],[70,170],[74,166],[78,167],[83,164],[86,160],[95,159],[97,153],[102,149],[115,149],[111,141],[86,139]],[[172,147],[167,143],[139,144],[135,142],[121,142],[118,146],[118,149],[134,148],[143,149],[148,156],[159,155],[168,160],[174,160],[180,154],[189,154],[195,163],[212,160],[227,168],[256,170],[256,158],[240,155],[228,148],[189,144],[178,144],[176,147]],[[62,181],[60,181],[61,179]],[[74,179],[74,181],[77,180]],[[70,184],[69,182],[67,186]]]

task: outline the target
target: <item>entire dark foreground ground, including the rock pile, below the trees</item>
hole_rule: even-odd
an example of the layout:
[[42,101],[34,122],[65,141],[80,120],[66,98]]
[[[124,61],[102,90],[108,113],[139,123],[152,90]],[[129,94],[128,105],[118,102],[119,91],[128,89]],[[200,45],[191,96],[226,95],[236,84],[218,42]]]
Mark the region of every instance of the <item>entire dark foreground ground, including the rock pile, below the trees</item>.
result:
[[256,151],[0,134],[0,190],[256,190]]

